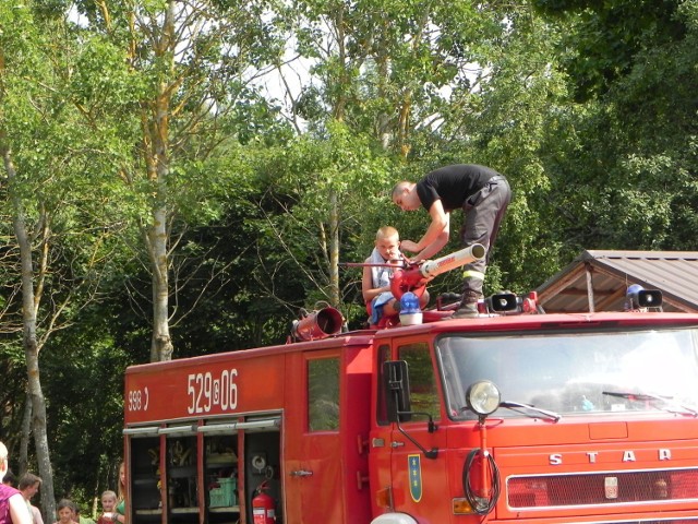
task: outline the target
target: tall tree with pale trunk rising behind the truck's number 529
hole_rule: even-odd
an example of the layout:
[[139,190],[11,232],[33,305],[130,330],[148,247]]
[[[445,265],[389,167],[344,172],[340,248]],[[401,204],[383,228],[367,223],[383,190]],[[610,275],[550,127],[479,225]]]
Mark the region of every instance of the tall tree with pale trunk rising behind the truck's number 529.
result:
[[[125,116],[140,129],[121,136],[133,144],[133,155],[119,165],[119,175],[142,206],[136,216],[152,275],[151,359],[167,360],[177,314],[171,297],[181,284],[170,282],[177,273],[172,255],[192,219],[206,222],[219,212],[215,205],[197,209],[224,175],[213,171],[208,159],[244,136],[260,115],[265,118],[255,109],[264,104],[250,85],[275,55],[274,34],[255,3],[105,0],[80,5],[87,29],[123,57],[142,87],[128,104]],[[95,107],[105,109],[98,103]],[[110,118],[121,117],[121,109],[109,107]]]

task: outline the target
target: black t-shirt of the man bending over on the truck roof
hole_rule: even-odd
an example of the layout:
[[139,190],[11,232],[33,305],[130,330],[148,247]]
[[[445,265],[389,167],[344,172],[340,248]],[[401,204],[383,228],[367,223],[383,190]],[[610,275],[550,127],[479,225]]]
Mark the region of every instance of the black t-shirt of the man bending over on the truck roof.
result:
[[501,175],[485,166],[455,164],[426,175],[417,183],[417,194],[426,211],[441,199],[444,211],[448,212],[462,207],[470,195],[496,176]]

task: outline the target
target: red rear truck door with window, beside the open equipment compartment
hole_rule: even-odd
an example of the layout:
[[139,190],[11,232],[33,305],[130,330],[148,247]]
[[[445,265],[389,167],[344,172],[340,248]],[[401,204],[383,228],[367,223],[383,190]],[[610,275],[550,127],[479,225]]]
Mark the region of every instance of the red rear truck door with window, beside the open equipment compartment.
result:
[[339,349],[294,353],[287,372],[285,486],[288,524],[344,523]]

